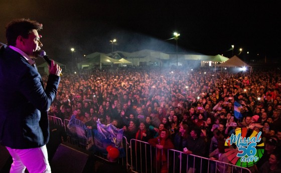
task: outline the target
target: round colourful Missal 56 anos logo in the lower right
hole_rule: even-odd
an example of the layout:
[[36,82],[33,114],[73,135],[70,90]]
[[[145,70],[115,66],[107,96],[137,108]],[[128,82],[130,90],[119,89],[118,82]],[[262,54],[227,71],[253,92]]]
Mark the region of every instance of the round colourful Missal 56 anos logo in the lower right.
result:
[[235,165],[249,167],[257,163],[264,152],[261,131],[249,131],[246,127],[235,129],[225,141],[227,158]]

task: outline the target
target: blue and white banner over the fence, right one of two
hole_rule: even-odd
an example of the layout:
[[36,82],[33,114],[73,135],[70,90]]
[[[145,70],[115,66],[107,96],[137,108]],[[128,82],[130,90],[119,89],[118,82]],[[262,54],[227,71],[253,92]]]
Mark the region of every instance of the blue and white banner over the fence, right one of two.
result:
[[125,154],[122,144],[123,129],[116,128],[112,124],[102,124],[97,120],[97,129],[93,129],[94,150],[107,154],[106,147],[112,145],[120,151],[120,157]]

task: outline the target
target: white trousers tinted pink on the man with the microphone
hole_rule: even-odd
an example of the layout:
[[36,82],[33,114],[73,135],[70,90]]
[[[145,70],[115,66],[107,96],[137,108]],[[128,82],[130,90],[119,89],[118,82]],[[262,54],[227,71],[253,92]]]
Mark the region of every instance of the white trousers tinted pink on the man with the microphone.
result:
[[46,145],[29,149],[7,149],[13,157],[10,173],[24,173],[26,168],[30,173],[51,172]]

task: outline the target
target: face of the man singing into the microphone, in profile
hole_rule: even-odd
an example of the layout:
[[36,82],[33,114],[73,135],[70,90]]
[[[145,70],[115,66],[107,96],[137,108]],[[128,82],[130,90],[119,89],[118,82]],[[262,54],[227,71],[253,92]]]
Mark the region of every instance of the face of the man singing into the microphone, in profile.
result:
[[39,40],[41,37],[42,35],[39,35],[37,30],[33,29],[28,35],[28,38],[23,38],[21,50],[23,50],[27,55],[32,56],[34,51],[40,50],[40,47],[43,46]]

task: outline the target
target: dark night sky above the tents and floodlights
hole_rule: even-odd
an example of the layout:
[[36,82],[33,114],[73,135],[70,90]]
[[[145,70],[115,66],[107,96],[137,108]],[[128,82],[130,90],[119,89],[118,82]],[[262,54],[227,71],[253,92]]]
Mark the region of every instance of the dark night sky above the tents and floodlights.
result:
[[[233,2],[232,2],[233,1]],[[41,41],[49,56],[65,62],[95,51],[153,49],[245,60],[280,57],[281,1],[264,0],[9,0],[0,1],[0,41],[14,18],[43,23]],[[253,3],[254,2],[254,3]],[[249,54],[246,52],[249,51]],[[257,55],[258,54],[258,55]]]

